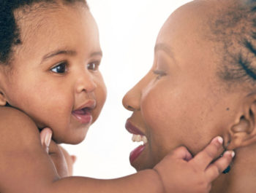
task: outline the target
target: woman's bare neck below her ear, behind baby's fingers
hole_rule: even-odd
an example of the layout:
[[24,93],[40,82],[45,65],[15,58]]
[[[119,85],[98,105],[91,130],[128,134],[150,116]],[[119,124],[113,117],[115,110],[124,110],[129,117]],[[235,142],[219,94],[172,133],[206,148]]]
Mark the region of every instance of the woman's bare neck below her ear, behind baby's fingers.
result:
[[256,145],[236,151],[230,172],[214,181],[211,193],[252,193],[256,185]]

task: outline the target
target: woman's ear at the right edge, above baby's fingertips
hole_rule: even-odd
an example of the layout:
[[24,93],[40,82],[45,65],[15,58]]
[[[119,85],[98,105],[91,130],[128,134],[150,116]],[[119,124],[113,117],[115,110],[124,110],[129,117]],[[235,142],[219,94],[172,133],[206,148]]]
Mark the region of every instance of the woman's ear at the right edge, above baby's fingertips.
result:
[[230,143],[227,149],[237,149],[256,143],[256,94],[244,98],[238,119],[229,128]]

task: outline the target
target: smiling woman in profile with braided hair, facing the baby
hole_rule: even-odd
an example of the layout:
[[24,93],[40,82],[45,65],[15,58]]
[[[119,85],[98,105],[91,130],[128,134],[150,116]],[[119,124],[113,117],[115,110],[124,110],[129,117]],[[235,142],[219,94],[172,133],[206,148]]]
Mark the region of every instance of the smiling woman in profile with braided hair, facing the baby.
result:
[[236,159],[211,193],[255,192],[255,11],[252,0],[197,0],[167,19],[151,70],[123,99],[127,130],[147,141],[131,154],[136,170],[177,146],[197,154],[221,135]]

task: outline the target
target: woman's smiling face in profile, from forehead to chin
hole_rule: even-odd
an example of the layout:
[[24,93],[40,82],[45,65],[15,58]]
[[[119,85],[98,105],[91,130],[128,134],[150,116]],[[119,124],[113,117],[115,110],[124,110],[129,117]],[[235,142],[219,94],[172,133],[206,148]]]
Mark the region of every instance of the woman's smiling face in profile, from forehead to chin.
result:
[[124,96],[124,107],[132,111],[127,130],[147,138],[130,154],[137,170],[153,168],[181,145],[196,154],[223,135],[233,117],[238,97],[227,94],[217,76],[219,57],[214,42],[204,38],[200,19],[205,9],[195,9],[194,3],[187,4],[167,19],[151,70]]

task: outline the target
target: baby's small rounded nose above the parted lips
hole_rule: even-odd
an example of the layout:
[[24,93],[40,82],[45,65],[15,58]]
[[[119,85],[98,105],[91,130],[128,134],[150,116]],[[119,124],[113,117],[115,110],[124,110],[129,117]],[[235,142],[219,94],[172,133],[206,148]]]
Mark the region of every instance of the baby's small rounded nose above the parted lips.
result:
[[93,92],[97,87],[96,82],[94,81],[94,77],[88,71],[80,73],[77,77],[76,92]]

